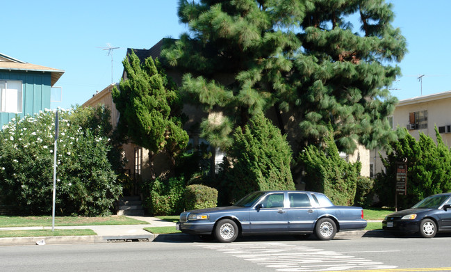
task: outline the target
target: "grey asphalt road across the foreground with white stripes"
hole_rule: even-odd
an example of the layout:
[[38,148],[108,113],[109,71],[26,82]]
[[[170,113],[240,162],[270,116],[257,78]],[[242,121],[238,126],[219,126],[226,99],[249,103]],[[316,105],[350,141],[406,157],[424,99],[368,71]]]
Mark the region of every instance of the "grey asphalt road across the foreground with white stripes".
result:
[[0,247],[1,271],[451,271],[451,235]]

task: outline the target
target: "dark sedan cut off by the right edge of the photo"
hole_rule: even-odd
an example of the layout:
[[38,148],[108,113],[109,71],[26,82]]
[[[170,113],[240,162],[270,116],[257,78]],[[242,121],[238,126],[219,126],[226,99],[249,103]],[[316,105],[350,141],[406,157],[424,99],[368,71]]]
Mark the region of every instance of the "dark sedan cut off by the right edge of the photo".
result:
[[388,214],[382,228],[395,233],[419,233],[425,238],[432,238],[437,232],[451,232],[451,193],[431,195],[411,209]]

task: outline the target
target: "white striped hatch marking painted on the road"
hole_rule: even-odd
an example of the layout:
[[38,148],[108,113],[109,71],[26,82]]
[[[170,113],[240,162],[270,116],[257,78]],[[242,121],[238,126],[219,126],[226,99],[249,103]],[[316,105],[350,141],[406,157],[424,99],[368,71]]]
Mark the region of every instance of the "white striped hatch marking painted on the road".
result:
[[336,252],[297,246],[293,244],[268,243],[218,243],[199,244],[203,248],[218,250],[248,262],[273,268],[275,271],[345,271],[348,269],[395,269],[397,266],[384,265],[370,259],[354,257],[350,253],[381,253],[388,251]]

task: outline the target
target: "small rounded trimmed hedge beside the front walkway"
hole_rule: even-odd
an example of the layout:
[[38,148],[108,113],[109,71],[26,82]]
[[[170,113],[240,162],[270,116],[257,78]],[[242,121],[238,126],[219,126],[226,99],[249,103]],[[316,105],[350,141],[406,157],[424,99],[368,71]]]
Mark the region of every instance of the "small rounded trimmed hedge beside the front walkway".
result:
[[185,209],[206,209],[218,205],[218,190],[202,185],[192,184],[186,186],[183,194]]

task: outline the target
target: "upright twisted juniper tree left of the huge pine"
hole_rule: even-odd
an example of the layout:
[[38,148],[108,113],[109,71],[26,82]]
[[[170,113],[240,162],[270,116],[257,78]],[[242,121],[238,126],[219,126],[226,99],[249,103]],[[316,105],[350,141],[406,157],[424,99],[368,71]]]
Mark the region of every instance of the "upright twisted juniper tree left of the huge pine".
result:
[[124,61],[127,78],[121,79],[119,90],[113,88],[113,101],[120,111],[118,129],[129,139],[150,151],[149,162],[158,152],[175,157],[188,145],[188,134],[180,117],[180,99],[174,84],[167,81],[158,60],[151,57],[140,63],[132,51]]

